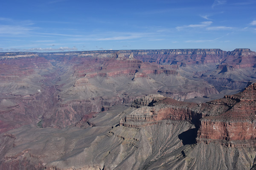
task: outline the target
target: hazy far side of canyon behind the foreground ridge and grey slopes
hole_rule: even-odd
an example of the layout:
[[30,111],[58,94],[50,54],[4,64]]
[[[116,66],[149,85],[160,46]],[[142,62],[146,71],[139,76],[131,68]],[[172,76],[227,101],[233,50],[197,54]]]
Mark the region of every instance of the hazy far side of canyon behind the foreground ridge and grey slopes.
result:
[[[0,53],[0,91],[5,95],[2,97],[1,113],[9,112],[10,117],[23,117],[24,121],[17,120],[15,127],[39,122],[41,127],[63,128],[76,124],[86,114],[98,113],[102,108],[131,102],[149,93],[177,100],[195,97],[208,99],[208,96],[218,94],[223,89],[222,84],[237,89],[247,83],[245,78],[248,80],[250,76],[253,79],[254,73],[250,73],[248,77],[239,77],[239,81],[233,80],[236,66],[232,63],[238,65],[242,61],[245,65],[247,62],[253,64],[254,56],[255,52],[249,49],[231,52],[185,49]],[[201,62],[197,62],[199,60]],[[219,65],[215,74],[209,71],[194,72],[190,66],[180,67],[179,62],[186,65],[194,63],[192,65],[198,65],[199,71],[204,64]],[[247,65],[247,68],[252,67]],[[215,85],[218,90],[201,79]],[[47,100],[48,97],[50,99]],[[34,107],[27,107],[30,103],[38,108],[37,112],[32,111]],[[44,105],[49,107],[45,108]],[[36,121],[24,116],[30,114]],[[1,119],[4,131],[13,128],[8,127],[13,123],[7,117],[2,115]]]

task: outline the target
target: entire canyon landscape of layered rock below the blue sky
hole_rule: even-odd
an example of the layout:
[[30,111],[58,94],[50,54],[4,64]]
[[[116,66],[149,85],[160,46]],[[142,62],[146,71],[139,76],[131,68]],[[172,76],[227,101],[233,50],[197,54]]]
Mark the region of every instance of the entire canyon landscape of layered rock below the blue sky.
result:
[[0,53],[0,169],[254,169],[256,52]]

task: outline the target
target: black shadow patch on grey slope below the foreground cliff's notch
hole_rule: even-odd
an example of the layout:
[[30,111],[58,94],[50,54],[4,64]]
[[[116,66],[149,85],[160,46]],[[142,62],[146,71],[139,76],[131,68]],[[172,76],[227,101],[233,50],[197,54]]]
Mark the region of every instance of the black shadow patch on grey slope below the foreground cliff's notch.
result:
[[180,133],[178,138],[182,140],[182,144],[195,144],[198,128],[189,129],[183,133]]

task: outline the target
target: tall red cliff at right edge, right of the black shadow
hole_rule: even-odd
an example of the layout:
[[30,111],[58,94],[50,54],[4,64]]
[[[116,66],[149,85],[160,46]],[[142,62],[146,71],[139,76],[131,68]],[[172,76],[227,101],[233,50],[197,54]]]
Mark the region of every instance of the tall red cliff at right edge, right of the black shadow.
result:
[[256,85],[249,85],[243,92],[225,96],[211,104],[228,107],[217,115],[201,119],[198,142],[218,142],[230,146],[255,145],[256,139]]

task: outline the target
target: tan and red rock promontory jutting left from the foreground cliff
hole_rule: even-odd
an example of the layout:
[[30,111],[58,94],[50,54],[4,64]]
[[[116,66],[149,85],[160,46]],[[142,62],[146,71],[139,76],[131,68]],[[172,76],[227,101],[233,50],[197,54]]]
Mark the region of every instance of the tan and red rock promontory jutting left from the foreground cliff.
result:
[[195,103],[179,102],[175,99],[151,95],[135,100],[132,106],[138,109],[122,118],[119,125],[138,128],[154,125],[166,119],[189,121],[198,125],[196,113],[198,105]]

